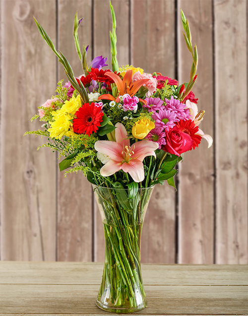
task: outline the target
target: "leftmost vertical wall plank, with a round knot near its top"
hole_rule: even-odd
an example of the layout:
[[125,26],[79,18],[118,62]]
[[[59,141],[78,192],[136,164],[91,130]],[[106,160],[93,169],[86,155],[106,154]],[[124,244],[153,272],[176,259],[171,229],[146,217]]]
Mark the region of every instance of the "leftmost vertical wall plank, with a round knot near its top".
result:
[[[46,6],[44,3],[46,2]],[[55,156],[30,122],[55,89],[56,59],[33,15],[56,39],[56,1],[1,1],[1,260],[55,260]],[[45,75],[49,73],[49,76]]]

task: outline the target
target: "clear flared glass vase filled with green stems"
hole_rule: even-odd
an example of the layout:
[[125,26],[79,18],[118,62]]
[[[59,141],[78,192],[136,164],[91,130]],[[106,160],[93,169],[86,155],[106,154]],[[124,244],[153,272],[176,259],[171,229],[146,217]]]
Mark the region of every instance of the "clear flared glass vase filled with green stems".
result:
[[141,268],[141,229],[153,187],[126,189],[93,185],[105,237],[105,263],[97,306],[113,313],[133,313],[147,306]]

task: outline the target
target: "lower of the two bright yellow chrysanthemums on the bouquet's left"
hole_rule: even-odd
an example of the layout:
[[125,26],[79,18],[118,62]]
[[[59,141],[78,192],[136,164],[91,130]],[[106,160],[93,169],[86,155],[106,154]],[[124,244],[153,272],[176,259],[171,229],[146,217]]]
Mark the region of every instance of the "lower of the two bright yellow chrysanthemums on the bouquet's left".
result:
[[61,139],[63,136],[75,135],[72,123],[69,121],[71,116],[62,113],[61,110],[53,112],[54,122],[49,122],[51,128],[48,129],[51,138]]

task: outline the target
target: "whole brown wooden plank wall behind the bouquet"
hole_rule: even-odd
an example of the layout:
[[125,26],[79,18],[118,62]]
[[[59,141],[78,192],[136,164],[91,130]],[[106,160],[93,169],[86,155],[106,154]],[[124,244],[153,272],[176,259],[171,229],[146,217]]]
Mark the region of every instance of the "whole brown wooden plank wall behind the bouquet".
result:
[[[247,0],[112,0],[119,64],[188,81],[191,56],[180,8],[199,55],[193,89],[200,128],[214,138],[186,153],[178,192],[157,185],[143,226],[143,263],[248,263]],[[59,171],[57,156],[22,135],[37,106],[65,79],[33,15],[82,73],[72,36],[88,61],[108,57],[109,0],[0,0],[0,260],[103,261],[101,218],[83,174]]]

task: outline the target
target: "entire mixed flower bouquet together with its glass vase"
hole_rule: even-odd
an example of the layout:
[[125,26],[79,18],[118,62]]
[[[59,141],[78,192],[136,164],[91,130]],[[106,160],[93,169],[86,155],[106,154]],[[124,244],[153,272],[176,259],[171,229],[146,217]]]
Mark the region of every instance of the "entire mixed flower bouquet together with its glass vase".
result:
[[104,225],[106,255],[97,305],[109,312],[136,312],[146,307],[140,269],[140,236],[154,185],[175,187],[176,164],[202,138],[191,91],[197,75],[197,50],[192,48],[186,17],[181,10],[186,45],[193,62],[188,83],[161,73],[145,73],[132,65],[119,67],[116,17],[110,3],[112,70],[102,69],[107,58],[98,56],[88,66],[88,47],[80,49],[75,15],[73,34],[83,74],[75,77],[65,56],[36,21],[41,36],[58,56],[68,82],[58,83],[57,95],[38,107],[33,119],[42,129],[26,134],[46,136],[50,147],[65,157],[60,170],[83,171],[92,183]]

